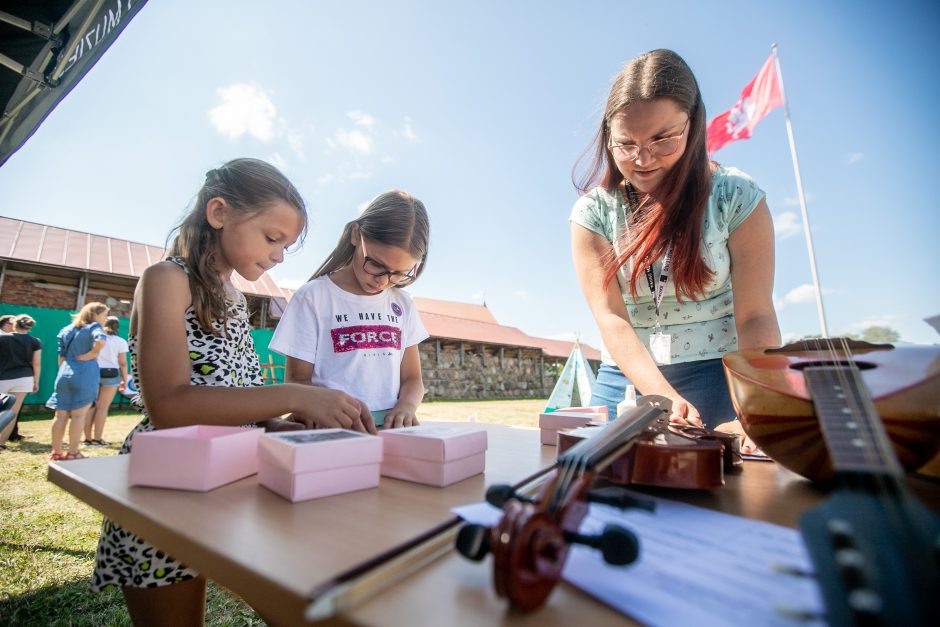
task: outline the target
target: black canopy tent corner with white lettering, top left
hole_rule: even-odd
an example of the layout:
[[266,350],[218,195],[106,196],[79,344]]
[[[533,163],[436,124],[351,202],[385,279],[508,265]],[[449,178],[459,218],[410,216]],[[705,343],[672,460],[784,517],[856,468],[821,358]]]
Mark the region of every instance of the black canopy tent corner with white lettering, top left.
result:
[[0,0],[0,166],[147,0]]

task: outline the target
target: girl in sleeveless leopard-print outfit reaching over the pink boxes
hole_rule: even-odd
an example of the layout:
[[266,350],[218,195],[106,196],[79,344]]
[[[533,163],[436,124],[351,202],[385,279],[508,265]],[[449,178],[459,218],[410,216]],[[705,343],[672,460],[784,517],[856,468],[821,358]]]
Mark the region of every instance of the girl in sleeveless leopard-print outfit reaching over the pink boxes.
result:
[[[170,256],[137,284],[128,343],[143,419],[121,453],[136,433],[195,424],[375,432],[365,407],[343,392],[262,385],[247,303],[231,275],[261,278],[306,225],[300,194],[267,163],[236,159],[206,174]],[[284,414],[295,422],[278,418]],[[91,587],[110,586],[122,588],[135,625],[203,624],[205,578],[105,519]]]

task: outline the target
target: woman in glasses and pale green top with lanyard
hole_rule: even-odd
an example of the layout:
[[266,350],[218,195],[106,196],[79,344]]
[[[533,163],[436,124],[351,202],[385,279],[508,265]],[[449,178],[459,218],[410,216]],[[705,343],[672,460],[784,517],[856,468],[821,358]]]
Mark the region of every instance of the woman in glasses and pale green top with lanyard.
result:
[[709,160],[705,128],[691,69],[654,50],[617,75],[585,153],[572,251],[605,346],[591,402],[612,413],[632,384],[674,422],[732,420],[721,356],[780,344],[764,192]]

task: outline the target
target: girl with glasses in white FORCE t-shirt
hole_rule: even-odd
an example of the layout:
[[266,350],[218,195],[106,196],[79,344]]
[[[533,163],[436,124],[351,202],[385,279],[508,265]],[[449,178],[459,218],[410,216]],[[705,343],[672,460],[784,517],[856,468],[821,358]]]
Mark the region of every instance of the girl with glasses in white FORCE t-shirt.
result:
[[418,343],[428,332],[399,289],[424,271],[429,222],[402,191],[377,197],[291,298],[270,348],[285,355],[285,381],[343,390],[376,426],[418,424],[424,397]]

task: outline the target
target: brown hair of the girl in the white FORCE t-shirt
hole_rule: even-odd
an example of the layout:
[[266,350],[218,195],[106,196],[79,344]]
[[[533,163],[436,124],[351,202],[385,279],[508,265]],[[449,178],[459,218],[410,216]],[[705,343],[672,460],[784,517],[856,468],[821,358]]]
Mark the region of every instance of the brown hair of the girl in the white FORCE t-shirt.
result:
[[369,240],[385,246],[395,246],[408,251],[418,260],[415,279],[421,276],[428,260],[430,241],[430,220],[424,203],[409,194],[393,189],[376,196],[355,220],[343,227],[339,242],[327,258],[313,273],[310,280],[331,272],[336,272],[352,263],[356,247],[351,234],[353,226],[359,225],[359,232]]

